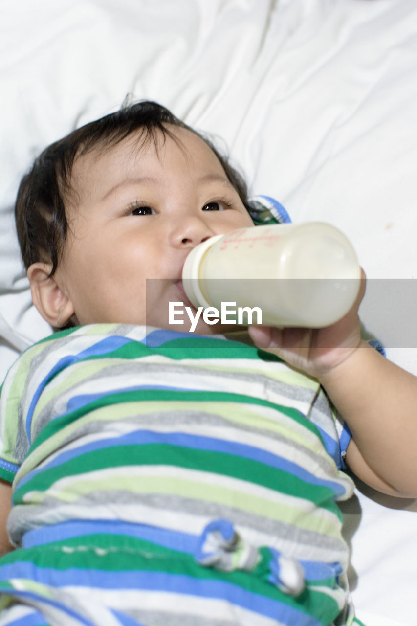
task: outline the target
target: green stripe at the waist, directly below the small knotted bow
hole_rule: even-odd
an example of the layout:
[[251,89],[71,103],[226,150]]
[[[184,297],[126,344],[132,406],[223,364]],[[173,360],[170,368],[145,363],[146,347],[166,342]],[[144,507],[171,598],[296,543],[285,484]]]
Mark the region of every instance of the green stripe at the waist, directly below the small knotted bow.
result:
[[[81,546],[80,550],[68,552],[63,547]],[[85,550],[85,546],[91,547]],[[97,553],[96,548],[108,552]],[[116,550],[111,550],[116,548]],[[38,548],[21,548],[3,557],[2,563],[35,563],[39,568],[66,570],[100,570],[104,572],[165,572],[172,575],[185,575],[197,580],[218,580],[271,598],[284,605],[297,608],[307,615],[314,615],[322,623],[331,623],[338,613],[337,603],[327,594],[306,588],[297,598],[281,592],[267,578],[269,577],[270,552],[261,549],[262,561],[253,572],[220,572],[214,568],[202,567],[195,563],[192,555],[164,548],[150,541],[130,536],[91,535],[56,541]],[[94,587],[94,580],[91,580]],[[3,587],[3,585],[2,585]]]

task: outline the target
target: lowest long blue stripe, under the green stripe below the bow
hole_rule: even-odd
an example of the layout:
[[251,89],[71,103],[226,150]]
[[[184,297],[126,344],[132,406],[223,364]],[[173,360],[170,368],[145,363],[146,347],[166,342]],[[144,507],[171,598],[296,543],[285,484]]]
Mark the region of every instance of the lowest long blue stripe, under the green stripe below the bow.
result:
[[[22,562],[15,565],[4,565],[0,568],[0,577],[4,579],[19,579],[28,578],[29,574],[31,580],[43,582],[54,587],[73,585],[75,587],[92,587],[96,589],[136,589],[148,590],[150,592],[195,595],[201,598],[226,600],[231,604],[254,613],[259,613],[259,615],[265,615],[275,620],[279,618],[280,622],[285,624],[296,623],[297,626],[321,626],[321,623],[316,618],[280,602],[278,598],[274,600],[265,595],[245,590],[234,583],[221,580],[192,578],[183,574],[175,575],[165,572],[140,572],[138,570],[133,572],[103,572],[103,570],[81,570],[76,568],[68,568],[67,570],[36,568],[36,572],[34,572],[33,567],[26,567],[28,565],[28,563]],[[33,575],[36,577],[33,578]],[[14,592],[9,588],[5,589],[5,591],[9,595],[13,595],[13,593],[18,595],[20,593]],[[277,595],[279,595],[279,592],[277,592]],[[323,602],[326,602],[324,594]],[[331,600],[331,602],[334,602],[334,600]]]

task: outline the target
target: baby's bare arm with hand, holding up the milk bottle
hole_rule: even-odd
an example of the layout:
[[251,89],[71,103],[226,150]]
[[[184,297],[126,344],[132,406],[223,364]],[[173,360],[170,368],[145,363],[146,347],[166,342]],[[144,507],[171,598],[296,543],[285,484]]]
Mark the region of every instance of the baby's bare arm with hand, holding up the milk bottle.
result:
[[252,327],[257,346],[316,377],[351,429],[346,461],[383,493],[417,497],[417,378],[361,341],[358,307],[325,329]]

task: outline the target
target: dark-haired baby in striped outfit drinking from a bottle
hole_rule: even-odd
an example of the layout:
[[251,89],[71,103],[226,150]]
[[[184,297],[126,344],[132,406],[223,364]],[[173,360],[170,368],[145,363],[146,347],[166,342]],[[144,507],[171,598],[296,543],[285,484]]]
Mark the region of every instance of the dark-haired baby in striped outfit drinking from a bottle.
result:
[[23,179],[33,302],[64,330],[1,389],[0,626],[359,623],[345,461],[417,495],[416,380],[361,342],[363,290],[327,329],[169,323],[188,252],[254,215],[227,160],[151,102]]

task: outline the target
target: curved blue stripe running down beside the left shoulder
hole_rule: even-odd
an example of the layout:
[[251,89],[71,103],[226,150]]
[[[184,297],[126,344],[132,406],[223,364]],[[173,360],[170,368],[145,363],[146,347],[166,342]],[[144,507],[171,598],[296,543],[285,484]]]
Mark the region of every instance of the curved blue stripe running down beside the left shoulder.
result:
[[121,346],[125,346],[125,344],[128,344],[130,342],[131,342],[131,339],[126,339],[126,337],[118,337],[118,336],[105,337],[105,339],[101,339],[93,346],[88,347],[87,349],[79,352],[78,354],[70,354],[69,356],[63,357],[63,359],[58,361],[58,363],[56,363],[56,365],[51,369],[51,371],[48,372],[47,376],[44,377],[41,384],[39,384],[38,389],[36,389],[35,393],[33,394],[33,398],[29,406],[28,415],[26,416],[26,434],[28,436],[29,443],[32,443],[31,426],[32,426],[32,418],[33,418],[34,409],[36,407],[36,404],[38,403],[38,400],[41,394],[43,393],[44,388],[48,384],[48,382],[51,381],[51,379],[53,379],[53,377],[65,367],[69,367],[73,365],[74,363],[83,361],[83,359],[88,359],[88,357],[100,356],[102,354],[108,354],[110,352],[114,352]]

